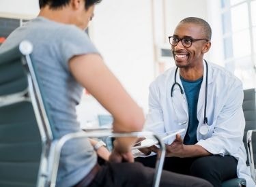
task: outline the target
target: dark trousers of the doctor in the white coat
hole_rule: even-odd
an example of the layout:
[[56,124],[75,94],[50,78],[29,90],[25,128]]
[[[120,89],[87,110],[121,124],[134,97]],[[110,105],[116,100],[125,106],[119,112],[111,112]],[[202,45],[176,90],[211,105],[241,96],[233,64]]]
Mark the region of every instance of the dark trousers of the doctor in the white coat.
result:
[[[135,158],[147,167],[154,167],[156,156]],[[197,158],[166,157],[164,169],[175,173],[193,175],[208,180],[219,187],[225,180],[237,177],[238,161],[233,156],[202,156]]]

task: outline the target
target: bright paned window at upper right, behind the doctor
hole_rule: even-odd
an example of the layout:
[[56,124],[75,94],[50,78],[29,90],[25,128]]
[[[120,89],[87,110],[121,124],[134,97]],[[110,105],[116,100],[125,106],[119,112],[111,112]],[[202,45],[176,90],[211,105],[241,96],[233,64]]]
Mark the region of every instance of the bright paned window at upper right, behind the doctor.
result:
[[221,0],[225,67],[255,88],[256,0]]

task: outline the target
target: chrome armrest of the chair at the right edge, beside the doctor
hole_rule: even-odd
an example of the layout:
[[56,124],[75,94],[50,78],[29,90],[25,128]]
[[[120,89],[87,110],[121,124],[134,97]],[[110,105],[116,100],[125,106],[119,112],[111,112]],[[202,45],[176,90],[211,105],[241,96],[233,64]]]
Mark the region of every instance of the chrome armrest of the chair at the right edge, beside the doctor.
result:
[[246,136],[246,142],[247,142],[247,150],[248,150],[248,158],[249,158],[249,164],[250,164],[250,170],[251,170],[251,177],[256,182],[256,173],[255,173],[255,160],[253,153],[256,152],[256,150],[253,150],[256,145],[253,146],[253,143],[256,143],[256,130],[248,130],[247,136]]

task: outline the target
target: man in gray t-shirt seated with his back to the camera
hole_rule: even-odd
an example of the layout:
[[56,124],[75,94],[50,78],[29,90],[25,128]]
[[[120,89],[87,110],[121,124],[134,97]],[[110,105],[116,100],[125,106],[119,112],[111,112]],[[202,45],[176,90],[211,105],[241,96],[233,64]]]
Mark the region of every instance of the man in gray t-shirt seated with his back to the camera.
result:
[[[113,116],[113,131],[141,131],[144,124],[141,108],[104,65],[84,31],[99,0],[39,2],[38,17],[16,29],[0,51],[24,39],[33,44],[31,58],[57,138],[81,131],[75,107],[83,88]],[[152,186],[154,169],[134,163],[130,152],[136,140],[133,137],[115,139],[109,162],[102,166],[97,164],[97,154],[89,139],[69,141],[61,152],[57,186]],[[196,177],[163,171],[160,186],[211,184]]]

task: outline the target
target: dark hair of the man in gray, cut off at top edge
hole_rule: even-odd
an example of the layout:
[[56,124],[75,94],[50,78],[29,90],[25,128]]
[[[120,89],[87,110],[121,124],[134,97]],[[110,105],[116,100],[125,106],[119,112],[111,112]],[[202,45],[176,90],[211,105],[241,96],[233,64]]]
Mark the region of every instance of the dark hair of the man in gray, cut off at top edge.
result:
[[[85,9],[87,10],[91,5],[100,3],[101,0],[84,0]],[[70,3],[70,0],[39,0],[39,7],[42,8],[46,5],[49,5],[51,9],[59,9]]]

